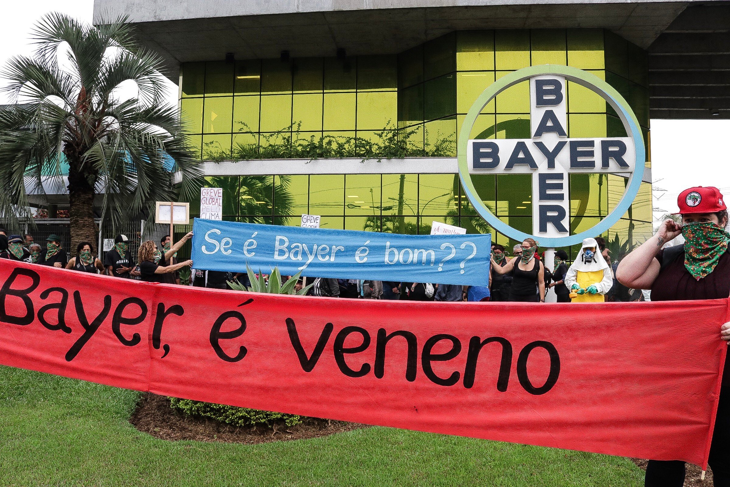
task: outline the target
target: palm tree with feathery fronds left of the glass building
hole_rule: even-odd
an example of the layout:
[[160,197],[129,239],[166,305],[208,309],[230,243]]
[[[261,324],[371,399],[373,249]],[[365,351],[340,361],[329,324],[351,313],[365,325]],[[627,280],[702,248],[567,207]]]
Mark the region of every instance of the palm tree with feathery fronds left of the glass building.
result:
[[[163,62],[126,20],[88,26],[47,15],[32,33],[36,53],[4,70],[16,104],[0,111],[0,211],[27,212],[28,193],[67,188],[72,248],[95,240],[96,195],[102,218],[118,226],[155,201],[190,198],[201,183],[177,108],[164,100]],[[119,99],[129,82],[137,98]]]

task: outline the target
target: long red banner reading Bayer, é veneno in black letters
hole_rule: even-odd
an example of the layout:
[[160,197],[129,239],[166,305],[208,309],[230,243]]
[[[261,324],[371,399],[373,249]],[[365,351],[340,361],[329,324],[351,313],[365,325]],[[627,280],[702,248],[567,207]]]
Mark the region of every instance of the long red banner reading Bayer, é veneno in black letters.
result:
[[272,296],[0,261],[0,363],[200,401],[705,466],[729,300]]

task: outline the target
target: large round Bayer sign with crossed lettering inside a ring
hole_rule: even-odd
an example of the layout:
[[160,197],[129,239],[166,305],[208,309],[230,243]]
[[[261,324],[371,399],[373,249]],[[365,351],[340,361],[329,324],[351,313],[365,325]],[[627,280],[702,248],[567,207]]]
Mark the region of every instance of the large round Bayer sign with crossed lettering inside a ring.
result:
[[[477,115],[497,94],[523,81],[530,84],[529,139],[469,139]],[[567,82],[601,95],[618,113],[630,137],[569,138]],[[596,134],[599,135],[599,134]],[[645,166],[639,123],[626,100],[593,74],[569,66],[531,66],[502,77],[477,98],[464,119],[458,140],[459,176],[479,214],[499,233],[516,240],[537,237],[545,247],[575,245],[616,223],[639,191]],[[629,179],[621,200],[593,229],[572,235],[571,174],[615,174]],[[532,176],[532,234],[512,229],[496,218],[477,195],[473,174]],[[525,188],[525,198],[528,189]]]

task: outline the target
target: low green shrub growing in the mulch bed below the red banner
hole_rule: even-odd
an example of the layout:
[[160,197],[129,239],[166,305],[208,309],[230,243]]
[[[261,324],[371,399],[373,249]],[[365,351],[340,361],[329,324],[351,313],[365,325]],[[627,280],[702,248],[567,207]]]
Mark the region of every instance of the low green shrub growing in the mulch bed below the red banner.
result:
[[272,423],[281,420],[284,421],[286,426],[295,426],[301,423],[301,416],[296,414],[273,413],[272,411],[212,404],[211,402],[199,402],[192,399],[171,397],[170,405],[173,409],[188,415],[211,418],[234,426],[256,426],[258,424],[272,426]]

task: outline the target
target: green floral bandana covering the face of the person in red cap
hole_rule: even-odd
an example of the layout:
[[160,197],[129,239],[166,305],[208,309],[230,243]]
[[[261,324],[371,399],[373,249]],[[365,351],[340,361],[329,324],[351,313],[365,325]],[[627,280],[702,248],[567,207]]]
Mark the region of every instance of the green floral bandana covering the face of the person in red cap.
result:
[[685,237],[685,267],[696,280],[710,274],[730,242],[730,234],[715,223],[688,223]]

